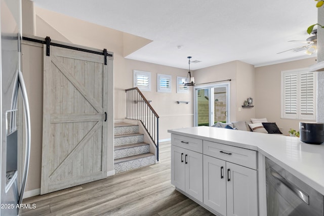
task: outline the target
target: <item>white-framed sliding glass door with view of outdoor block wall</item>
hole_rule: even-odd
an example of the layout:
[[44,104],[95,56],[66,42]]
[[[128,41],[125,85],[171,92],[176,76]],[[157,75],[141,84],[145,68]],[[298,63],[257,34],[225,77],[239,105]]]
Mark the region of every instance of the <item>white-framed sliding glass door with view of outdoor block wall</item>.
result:
[[194,125],[229,122],[229,83],[194,88]]

